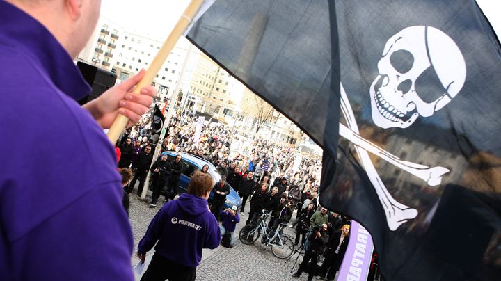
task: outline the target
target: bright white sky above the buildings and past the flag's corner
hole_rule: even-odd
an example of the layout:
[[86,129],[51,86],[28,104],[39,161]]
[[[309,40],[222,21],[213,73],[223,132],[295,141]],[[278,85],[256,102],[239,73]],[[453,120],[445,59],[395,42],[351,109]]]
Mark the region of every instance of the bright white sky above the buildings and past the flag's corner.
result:
[[[127,31],[164,40],[189,0],[102,0],[101,15]],[[501,38],[501,1],[477,0]]]

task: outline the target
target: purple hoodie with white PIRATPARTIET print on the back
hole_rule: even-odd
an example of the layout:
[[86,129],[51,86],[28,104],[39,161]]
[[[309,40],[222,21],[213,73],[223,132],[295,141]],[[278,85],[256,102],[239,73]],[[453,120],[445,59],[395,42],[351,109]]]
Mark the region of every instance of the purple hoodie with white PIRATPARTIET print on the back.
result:
[[220,242],[221,230],[207,208],[207,200],[184,193],[154,216],[138,252],[148,252],[157,243],[155,251],[162,257],[196,268],[202,260],[202,249],[215,249]]

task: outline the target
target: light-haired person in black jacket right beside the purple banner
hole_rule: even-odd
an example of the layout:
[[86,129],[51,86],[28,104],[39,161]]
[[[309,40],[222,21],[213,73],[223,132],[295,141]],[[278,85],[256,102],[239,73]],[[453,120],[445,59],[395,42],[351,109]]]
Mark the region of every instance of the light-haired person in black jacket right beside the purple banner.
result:
[[319,275],[326,280],[334,280],[337,269],[340,268],[344,252],[349,240],[349,225],[343,225],[341,230],[333,232],[327,242],[324,264],[320,267]]

